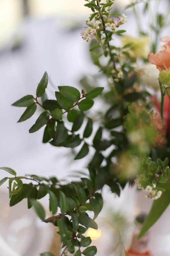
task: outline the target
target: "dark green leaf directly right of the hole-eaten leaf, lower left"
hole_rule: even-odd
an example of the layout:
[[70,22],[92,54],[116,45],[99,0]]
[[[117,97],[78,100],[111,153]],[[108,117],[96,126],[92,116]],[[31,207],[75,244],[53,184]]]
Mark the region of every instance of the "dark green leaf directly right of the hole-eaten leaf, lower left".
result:
[[19,191],[17,195],[12,195],[9,205],[14,206],[18,204],[22,199],[28,197],[32,190],[32,186],[28,184],[23,184],[22,189]]

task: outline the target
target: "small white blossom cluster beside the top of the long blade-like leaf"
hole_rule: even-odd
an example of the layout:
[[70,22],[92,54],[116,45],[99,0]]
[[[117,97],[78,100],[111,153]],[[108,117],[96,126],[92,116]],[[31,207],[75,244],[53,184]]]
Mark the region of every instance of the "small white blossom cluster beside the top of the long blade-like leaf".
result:
[[145,175],[143,174],[140,174],[140,175],[136,175],[136,179],[135,179],[135,184],[137,184],[138,188],[139,189],[142,189],[142,191],[146,191],[148,192],[147,195],[145,195],[146,198],[150,198],[150,199],[158,199],[160,198],[160,196],[162,195],[162,191],[161,190],[156,190],[155,187],[156,185],[155,184],[152,184],[151,186],[148,185],[146,186],[146,188],[144,188],[140,181],[145,179]]

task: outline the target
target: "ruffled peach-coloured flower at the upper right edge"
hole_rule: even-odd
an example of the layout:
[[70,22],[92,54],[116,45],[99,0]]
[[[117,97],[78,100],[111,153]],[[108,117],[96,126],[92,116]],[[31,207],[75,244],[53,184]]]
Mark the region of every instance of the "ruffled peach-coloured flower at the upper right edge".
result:
[[167,42],[164,48],[156,54],[152,52],[148,55],[150,63],[156,65],[156,68],[160,71],[170,70],[170,42]]

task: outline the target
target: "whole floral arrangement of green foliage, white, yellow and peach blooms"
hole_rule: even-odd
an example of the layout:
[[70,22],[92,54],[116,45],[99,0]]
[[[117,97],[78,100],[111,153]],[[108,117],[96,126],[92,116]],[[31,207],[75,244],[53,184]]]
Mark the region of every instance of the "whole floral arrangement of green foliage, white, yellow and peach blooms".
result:
[[[45,72],[36,95],[26,95],[12,105],[26,108],[18,122],[31,118],[37,106],[42,109],[29,133],[45,126],[43,143],[75,148],[75,161],[92,155],[86,165],[88,176],[64,183],[54,176],[19,176],[12,168],[1,167],[12,175],[0,180],[0,185],[9,182],[10,206],[27,198],[28,208],[33,207],[42,221],[57,226],[63,248],[61,256],[68,252],[75,256],[97,253],[84,233],[88,228],[98,228],[95,219],[103,207],[103,186],[109,186],[112,193],[120,196],[127,182],[136,183],[138,189],[147,192],[146,197],[153,199],[139,237],[158,220],[170,202],[170,37],[161,39],[164,49],[156,53],[160,31],[168,23],[167,16],[154,12],[155,23],[150,24],[153,36],[149,37],[149,31],[142,31],[137,15],[140,1],[133,2],[128,8],[134,10],[140,35],[133,38],[123,35],[128,17],[113,12],[114,0],[85,1],[84,6],[91,9],[91,15],[81,37],[89,42],[93,63],[107,78],[105,88],[90,85],[91,89],[86,90],[84,84],[80,92],[74,87],[58,86],[55,99],[48,99]],[[142,3],[145,15],[150,2],[154,1]],[[119,47],[114,45],[115,38],[120,39]],[[100,78],[95,79],[97,83]],[[94,117],[89,110],[96,97],[100,97],[101,105],[107,109],[102,107]],[[95,132],[94,123],[98,126]],[[28,182],[24,183],[24,179]],[[46,217],[38,201],[47,194],[50,217]],[[94,213],[93,218],[88,211]],[[41,255],[52,256],[48,252]]]

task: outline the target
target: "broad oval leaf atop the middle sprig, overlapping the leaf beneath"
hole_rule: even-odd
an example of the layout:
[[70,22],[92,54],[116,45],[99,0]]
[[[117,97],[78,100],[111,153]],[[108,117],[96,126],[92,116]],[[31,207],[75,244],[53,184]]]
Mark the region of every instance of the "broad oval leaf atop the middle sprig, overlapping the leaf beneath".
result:
[[80,98],[80,92],[72,86],[58,86],[60,93],[70,101],[77,101]]

